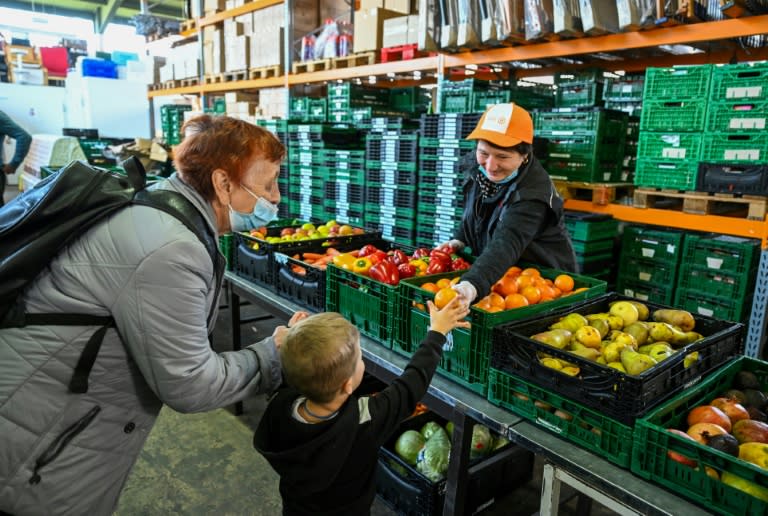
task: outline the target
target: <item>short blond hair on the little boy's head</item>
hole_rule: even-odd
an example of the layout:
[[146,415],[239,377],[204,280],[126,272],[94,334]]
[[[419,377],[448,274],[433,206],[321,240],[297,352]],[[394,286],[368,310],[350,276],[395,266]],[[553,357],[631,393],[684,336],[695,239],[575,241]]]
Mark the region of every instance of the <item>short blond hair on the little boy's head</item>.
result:
[[307,317],[288,330],[280,359],[288,384],[318,403],[334,399],[357,367],[360,332],[341,314]]

